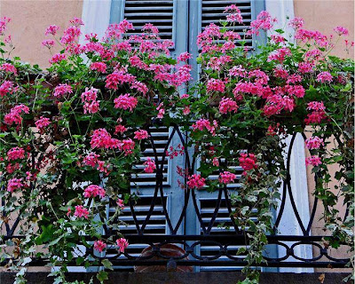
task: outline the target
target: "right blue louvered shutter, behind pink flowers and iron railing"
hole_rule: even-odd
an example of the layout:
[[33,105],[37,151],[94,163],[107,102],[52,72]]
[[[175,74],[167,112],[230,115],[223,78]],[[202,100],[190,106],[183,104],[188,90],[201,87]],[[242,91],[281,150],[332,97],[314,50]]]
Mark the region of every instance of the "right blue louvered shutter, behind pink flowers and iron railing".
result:
[[[239,1],[225,1],[225,0],[192,0],[190,1],[189,6],[189,52],[193,54],[193,59],[198,57],[199,48],[196,43],[196,38],[204,28],[206,28],[210,23],[215,23],[218,25],[220,20],[225,19],[225,6],[230,4],[236,4],[238,8],[241,10],[241,15],[243,17],[243,25],[236,24],[233,26],[233,31],[238,32],[243,38],[243,34],[250,28],[250,22],[256,19],[256,16],[259,12],[264,10],[264,1],[262,0],[239,0]],[[260,36],[253,36],[252,38],[247,38],[245,45],[250,48],[256,49],[256,42],[262,43],[264,42],[264,35],[261,33]],[[192,60],[193,64],[193,78],[198,79],[199,67],[195,63],[195,60]],[[241,178],[242,169],[237,167],[237,163],[229,162],[229,168],[234,170],[237,174],[237,180],[234,184],[228,185],[228,194],[227,196],[232,195],[233,193],[238,193],[238,189],[240,188],[239,178]],[[199,163],[197,165],[199,168]],[[209,179],[217,179],[218,172],[212,173],[209,176]],[[209,193],[205,190],[196,191],[196,198],[199,210],[201,212],[201,220],[195,214],[195,209],[193,207],[192,202],[188,206],[188,212],[186,218],[186,234],[233,234],[234,228],[230,218],[230,212],[227,209],[226,202],[229,202],[228,198],[225,199],[225,193],[222,192],[221,204],[220,208],[217,211],[217,217],[213,225],[210,224],[210,221],[215,213],[215,209],[217,207],[217,198],[219,191],[214,193]],[[202,225],[201,225],[202,223]],[[210,228],[209,228],[210,225]],[[204,227],[204,228],[202,228]],[[204,230],[209,232],[204,232]],[[238,246],[229,246],[229,253],[236,253]],[[233,249],[235,248],[235,251]],[[194,253],[199,256],[216,256],[219,251],[218,246],[214,246],[213,244],[204,244],[200,246],[196,246]],[[274,250],[268,252],[270,254],[274,254]],[[221,256],[220,260],[224,260],[226,256]],[[197,267],[196,271],[214,271],[214,270],[241,270],[242,267],[231,267],[231,266],[201,266]]]

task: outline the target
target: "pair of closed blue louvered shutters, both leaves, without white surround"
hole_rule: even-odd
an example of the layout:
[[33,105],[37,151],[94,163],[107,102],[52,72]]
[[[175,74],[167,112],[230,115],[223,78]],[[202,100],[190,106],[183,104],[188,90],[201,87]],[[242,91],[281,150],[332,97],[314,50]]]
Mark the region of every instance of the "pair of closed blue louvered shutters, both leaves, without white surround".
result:
[[[193,60],[191,64],[193,66],[193,78],[198,78],[198,67],[195,63],[195,58],[199,55],[199,50],[196,44],[196,38],[198,34],[209,25],[209,23],[218,23],[219,20],[225,18],[223,13],[225,6],[230,4],[237,4],[240,8],[244,25],[236,25],[233,30],[240,33],[243,38],[245,29],[249,28],[251,20],[256,19],[256,15],[264,10],[264,1],[259,0],[238,0],[238,1],[224,1],[224,0],[113,0],[110,22],[119,22],[123,19],[127,19],[133,23],[136,30],[132,31],[129,35],[139,34],[140,28],[145,23],[152,23],[159,28],[162,39],[172,40],[175,44],[174,49],[171,50],[171,55],[176,57],[177,54],[189,51],[193,54]],[[248,40],[247,45],[255,47],[256,38],[253,37]],[[166,145],[169,133],[171,130],[168,128],[151,129],[152,136],[154,138],[154,144],[159,149],[158,156],[162,157],[162,151]],[[175,135],[175,138],[171,140],[170,146],[176,147],[181,142]],[[155,187],[155,174],[142,174],[143,162],[147,157],[154,158],[153,149],[149,146],[142,153],[141,162],[135,165],[135,170],[132,176],[132,193],[136,193],[139,196],[138,203],[135,205],[135,210],[138,218],[138,223],[142,224],[146,219],[147,211],[150,207],[154,195]],[[166,208],[169,212],[171,223],[175,225],[176,218],[179,217],[181,209],[184,206],[184,191],[178,187],[177,179],[181,179],[177,175],[177,165],[181,168],[185,168],[185,162],[183,157],[176,157],[173,160],[167,158],[164,163],[164,198],[166,202]],[[231,168],[236,171],[238,178],[241,177],[241,168],[231,165]],[[165,170],[166,169],[166,170]],[[218,172],[209,176],[210,179],[218,178]],[[233,185],[228,185],[228,193],[237,193],[240,187],[238,182]],[[138,187],[137,187],[138,185]],[[202,225],[209,227],[209,222],[216,209],[216,202],[219,192],[209,193],[204,190],[195,192],[197,198],[197,206],[201,212]],[[217,233],[235,233],[233,228],[233,221],[230,217],[230,212],[226,206],[225,193],[221,198],[221,204],[217,211],[217,217],[213,225],[210,228],[210,234]],[[160,197],[157,201],[161,201]],[[108,214],[112,214],[114,209],[109,209]],[[191,200],[187,204],[185,222],[180,226],[180,231],[177,234],[203,234],[203,229],[198,217],[196,216],[195,209],[193,207],[193,201]],[[174,219],[175,218],[175,219]],[[133,217],[130,213],[130,207],[127,206],[123,210],[120,220],[126,225],[119,225],[119,229],[123,234],[137,233],[137,229],[133,222]],[[230,229],[228,229],[228,226]],[[162,212],[162,204],[156,204],[154,213],[150,219],[149,224],[146,226],[145,233],[152,234],[165,234],[171,233],[167,225],[167,221]],[[143,248],[146,248],[146,244],[133,244],[128,248],[130,254],[138,256]],[[113,249],[113,248],[111,248]],[[195,254],[199,256],[216,256],[218,254],[219,247],[213,244],[203,244],[195,246]],[[235,256],[237,246],[228,247],[228,252]],[[107,250],[107,254],[114,253],[114,250],[110,252]],[[124,257],[124,256],[121,256]],[[189,256],[190,257],[190,256]],[[192,256],[191,256],[192,257]],[[226,257],[226,256],[225,256]],[[223,258],[221,258],[223,259]],[[125,267],[124,269],[127,269]],[[130,268],[131,269],[131,268]],[[213,270],[240,270],[241,267],[196,267],[196,271],[213,271]]]

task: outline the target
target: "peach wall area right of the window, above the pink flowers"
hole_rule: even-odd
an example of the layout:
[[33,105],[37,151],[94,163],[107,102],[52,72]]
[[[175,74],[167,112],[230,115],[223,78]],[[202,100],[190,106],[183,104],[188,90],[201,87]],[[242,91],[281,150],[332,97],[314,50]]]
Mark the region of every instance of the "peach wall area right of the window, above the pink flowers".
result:
[[[289,0],[285,0],[289,1]],[[343,26],[349,29],[349,41],[354,40],[354,1],[353,0],[294,0],[295,16],[304,18],[304,28],[319,30],[325,35],[334,34],[333,28]],[[354,58],[344,51],[339,43],[334,55]]]

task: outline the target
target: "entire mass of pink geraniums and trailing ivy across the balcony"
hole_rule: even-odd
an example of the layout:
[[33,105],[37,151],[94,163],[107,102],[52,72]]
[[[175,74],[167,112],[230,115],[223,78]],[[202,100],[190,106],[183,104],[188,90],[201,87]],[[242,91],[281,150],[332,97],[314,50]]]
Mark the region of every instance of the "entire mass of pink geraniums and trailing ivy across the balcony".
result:
[[[184,52],[172,59],[172,43],[162,41],[151,24],[141,36],[127,38],[133,26],[123,20],[107,28],[102,40],[90,34],[84,43],[79,43],[81,20],[72,20],[60,37],[59,27],[52,25],[45,34],[53,37],[43,45],[51,51],[60,44],[63,50],[52,55],[43,73],[10,59],[9,20],[1,21],[0,194],[6,205],[0,224],[12,235],[23,220],[19,234],[26,238],[4,240],[13,248],[12,254],[4,249],[8,266],[20,268],[18,283],[25,282],[34,254],[60,267],[52,272],[57,282],[65,281],[75,256],[76,264],[85,267],[112,268],[107,259],[91,256],[114,245],[122,253],[129,245],[117,230],[117,217],[132,198],[132,165],[151,138],[150,126],[180,125],[191,133],[187,146],[201,163],[197,172],[177,169],[185,178],[183,188],[218,190],[235,182],[233,167],[242,168],[233,215],[248,239],[246,283],[258,281],[250,267],[264,261],[266,234],[272,232],[287,134],[310,134],[311,155],[305,162],[319,176],[314,194],[323,201],[327,229],[335,236],[329,245],[352,241],[353,61],[329,56],[333,37],[303,29],[298,18],[289,21],[297,44],[277,29],[253,51],[229,28],[242,23],[239,9],[231,5],[225,12],[222,27],[210,24],[198,36],[200,80],[184,94],[192,78],[186,62],[192,56]],[[272,31],[275,21],[261,12],[246,36]],[[343,36],[347,30],[337,27],[335,33]],[[185,153],[181,146],[170,150],[170,158]],[[339,165],[336,194],[328,185],[333,163]],[[155,170],[153,160],[144,162],[144,172]],[[219,177],[209,179],[216,170]],[[350,211],[343,223],[335,208],[341,197]],[[107,217],[106,206],[112,203],[115,212]],[[14,226],[13,214],[19,216]],[[79,242],[86,253],[78,252]],[[36,249],[43,245],[44,250]],[[106,278],[106,272],[98,273],[100,281]]]

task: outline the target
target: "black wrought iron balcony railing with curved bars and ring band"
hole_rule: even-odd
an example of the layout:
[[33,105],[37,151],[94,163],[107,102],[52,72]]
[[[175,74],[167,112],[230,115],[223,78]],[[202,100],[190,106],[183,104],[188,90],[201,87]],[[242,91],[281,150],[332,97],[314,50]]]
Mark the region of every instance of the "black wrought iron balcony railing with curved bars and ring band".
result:
[[[149,130],[149,129],[148,129]],[[349,262],[346,256],[335,257],[331,256],[329,253],[329,248],[327,248],[327,242],[325,238],[331,238],[330,236],[324,235],[312,235],[312,225],[314,225],[316,218],[316,211],[319,207],[319,200],[315,197],[312,205],[312,211],[310,214],[309,221],[304,225],[300,212],[297,209],[297,204],[293,195],[293,189],[291,187],[291,153],[293,151],[293,146],[296,141],[296,133],[290,139],[288,154],[286,159],[286,170],[288,172],[286,179],[283,182],[283,187],[281,190],[281,200],[280,209],[275,213],[275,223],[274,231],[272,234],[267,236],[268,243],[272,247],[273,251],[278,253],[268,253],[265,251],[264,258],[267,263],[259,264],[258,266],[268,266],[268,267],[326,267],[326,268],[344,268]],[[300,135],[300,134],[298,134]],[[305,135],[302,134],[305,139]],[[233,205],[230,198],[229,189],[225,186],[224,188],[217,190],[216,196],[216,207],[212,210],[212,215],[210,216],[209,222],[203,220],[201,215],[201,208],[198,203],[198,198],[196,196],[196,191],[193,189],[185,189],[184,202],[179,212],[179,216],[175,219],[177,222],[173,224],[170,217],[170,212],[167,207],[166,193],[164,193],[163,187],[163,167],[164,160],[168,159],[166,151],[168,150],[170,143],[173,138],[177,138],[179,143],[185,146],[185,168],[189,172],[193,172],[195,169],[196,159],[189,154],[188,147],[186,146],[186,136],[181,130],[174,126],[170,130],[170,136],[168,142],[165,145],[164,152],[162,156],[158,158],[156,146],[154,143],[154,138],[150,136],[150,143],[153,149],[153,154],[156,163],[156,182],[154,185],[154,194],[151,198],[150,204],[146,211],[146,215],[142,218],[138,218],[138,212],[135,209],[134,201],[130,201],[129,208],[130,214],[134,223],[136,233],[124,234],[124,237],[130,242],[130,247],[126,251],[120,254],[115,249],[107,248],[106,255],[98,255],[94,253],[93,248],[85,248],[84,256],[95,255],[98,258],[108,258],[114,266],[139,266],[139,265],[177,265],[177,266],[226,266],[226,267],[241,267],[247,264],[245,257],[243,255],[237,256],[236,250],[240,246],[248,245],[248,237],[246,233],[241,231],[236,225],[235,217],[233,216]],[[315,178],[318,178],[315,176]],[[288,202],[288,201],[289,202]],[[220,233],[216,233],[212,230],[217,220],[217,214],[222,208],[222,202],[225,203],[224,212],[226,216],[230,219],[229,224],[231,226],[228,230],[221,230]],[[155,234],[147,233],[147,228],[149,224],[154,220],[154,208],[156,206],[160,207],[160,212],[166,222],[167,234]],[[290,204],[290,207],[288,207]],[[4,205],[4,204],[3,204]],[[193,208],[197,219],[197,225],[200,226],[201,230],[198,230],[196,234],[185,233],[181,230],[185,225],[185,221],[191,217],[191,210],[188,211],[187,208]],[[296,217],[295,226],[299,227],[301,234],[295,235],[285,235],[280,234],[278,228],[280,225],[280,220],[285,212],[291,210]],[[120,222],[120,217],[117,217],[116,221]],[[14,232],[16,226],[19,224],[20,219],[16,219],[12,225],[6,224],[6,236],[4,240],[12,239],[15,236]],[[316,221],[318,222],[318,220]],[[107,237],[109,235],[115,234],[112,229],[107,226],[103,228],[104,235]],[[134,246],[138,245],[138,248],[134,250]],[[178,250],[178,254],[167,254],[166,249],[168,244],[174,245]],[[346,244],[344,244],[346,245]],[[302,254],[298,255],[296,253],[297,248],[302,246],[308,246],[311,249],[312,256],[304,256]],[[139,253],[141,248],[149,248],[148,253]],[[201,248],[210,248],[208,254],[201,253]],[[171,247],[168,246],[170,249]],[[179,249],[180,248],[180,249]],[[168,249],[168,250],[169,250]],[[267,249],[267,250],[272,250]],[[133,251],[133,252],[132,252]],[[281,253],[282,251],[282,253]],[[46,264],[44,259],[33,259],[30,265],[42,265]],[[75,265],[75,263],[73,263]]]

